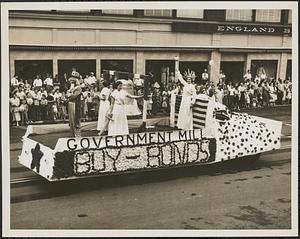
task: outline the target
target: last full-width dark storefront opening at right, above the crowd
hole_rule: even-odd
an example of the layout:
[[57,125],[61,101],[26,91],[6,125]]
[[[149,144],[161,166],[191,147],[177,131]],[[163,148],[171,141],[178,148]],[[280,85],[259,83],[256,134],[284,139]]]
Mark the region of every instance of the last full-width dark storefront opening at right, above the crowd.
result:
[[252,60],[251,74],[255,78],[259,68],[265,69],[267,78],[276,78],[277,74],[277,60]]

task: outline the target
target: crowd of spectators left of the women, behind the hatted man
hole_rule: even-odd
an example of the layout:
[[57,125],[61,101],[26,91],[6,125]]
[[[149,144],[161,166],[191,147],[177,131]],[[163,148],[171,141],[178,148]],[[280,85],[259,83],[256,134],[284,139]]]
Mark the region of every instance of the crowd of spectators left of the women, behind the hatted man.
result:
[[[99,84],[94,73],[80,79],[82,84],[82,120],[95,119],[99,108]],[[27,125],[33,122],[66,121],[68,118],[66,92],[69,88],[65,73],[61,79],[46,74],[30,84],[15,75],[10,84],[10,123]]]

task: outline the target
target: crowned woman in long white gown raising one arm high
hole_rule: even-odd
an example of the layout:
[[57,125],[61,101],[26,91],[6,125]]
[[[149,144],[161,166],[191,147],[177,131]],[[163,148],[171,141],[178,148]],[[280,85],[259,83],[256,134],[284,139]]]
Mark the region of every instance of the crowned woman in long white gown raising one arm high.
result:
[[177,127],[183,130],[193,129],[193,111],[192,106],[196,97],[196,88],[192,84],[191,77],[187,77],[185,81],[179,70],[176,71],[176,76],[183,85],[182,99],[179,108]]

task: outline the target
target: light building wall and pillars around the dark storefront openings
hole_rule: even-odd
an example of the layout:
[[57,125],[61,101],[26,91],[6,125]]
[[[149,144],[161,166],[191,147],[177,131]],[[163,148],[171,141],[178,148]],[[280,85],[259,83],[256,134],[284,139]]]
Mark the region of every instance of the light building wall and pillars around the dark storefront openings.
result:
[[[172,32],[170,19],[133,19],[117,17],[47,17],[13,14],[9,19],[10,45],[48,45],[48,46],[143,46],[175,47],[168,50],[131,50],[131,51],[38,51],[11,50],[10,72],[15,73],[15,60],[53,60],[53,74],[58,72],[57,60],[95,59],[96,74],[101,73],[102,59],[133,60],[134,71],[145,74],[145,61],[173,60],[179,56],[182,61],[213,60],[209,73],[213,81],[218,80],[221,61],[244,62],[244,71],[250,69],[252,60],[277,60],[276,77],[284,78],[287,60],[292,48],[291,36],[223,34],[223,33],[179,33]],[[185,51],[184,47],[195,47]],[[214,50],[206,48],[213,47]],[[203,48],[203,49],[201,49]],[[221,52],[219,48],[229,49]],[[242,51],[240,48],[243,49]],[[268,52],[253,52],[252,48],[271,49]],[[276,48],[276,53],[272,52]],[[283,49],[281,52],[280,49]]]

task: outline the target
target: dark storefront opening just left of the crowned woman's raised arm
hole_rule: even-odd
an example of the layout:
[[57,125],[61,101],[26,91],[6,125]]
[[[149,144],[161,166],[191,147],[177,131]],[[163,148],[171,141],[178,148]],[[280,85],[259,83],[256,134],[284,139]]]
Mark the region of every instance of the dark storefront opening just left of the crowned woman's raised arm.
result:
[[152,83],[157,81],[161,89],[165,89],[170,80],[171,73],[174,74],[174,60],[146,60],[146,74],[153,74]]

